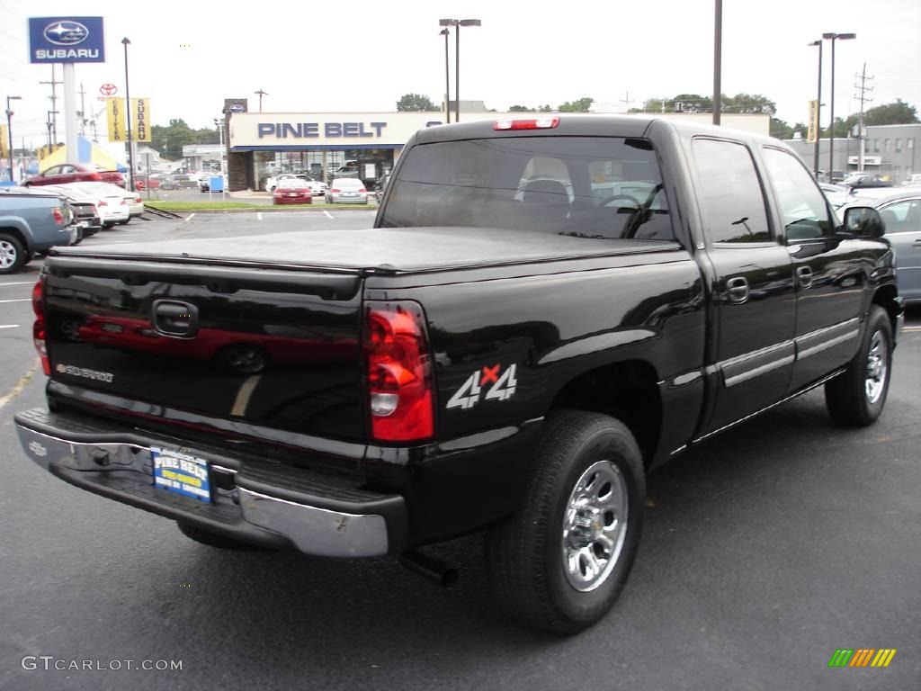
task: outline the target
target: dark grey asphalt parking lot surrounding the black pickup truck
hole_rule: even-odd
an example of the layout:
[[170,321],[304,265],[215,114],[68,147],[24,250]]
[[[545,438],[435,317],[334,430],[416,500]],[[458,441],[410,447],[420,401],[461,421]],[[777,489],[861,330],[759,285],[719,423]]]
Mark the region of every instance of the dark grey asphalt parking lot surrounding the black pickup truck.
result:
[[[196,214],[85,242],[372,223],[365,211]],[[45,474],[12,422],[43,404],[29,304],[40,269],[0,276],[0,688],[921,688],[921,311],[873,427],[835,427],[813,392],[652,474],[619,603],[554,638],[495,611],[478,537],[437,547],[461,569],[442,591],[394,560],[197,545]],[[829,668],[838,648],[898,652],[886,669]],[[26,656],[96,667],[26,669]],[[126,660],[181,670],[113,669]]]

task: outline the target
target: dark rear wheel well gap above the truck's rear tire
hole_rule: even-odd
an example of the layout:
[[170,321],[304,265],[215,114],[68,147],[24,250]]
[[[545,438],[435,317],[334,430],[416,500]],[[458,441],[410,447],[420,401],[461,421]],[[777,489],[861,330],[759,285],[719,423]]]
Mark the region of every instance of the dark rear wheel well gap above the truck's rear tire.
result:
[[554,397],[551,409],[571,408],[616,417],[629,427],[648,467],[656,455],[662,404],[656,370],[627,360],[583,372]]

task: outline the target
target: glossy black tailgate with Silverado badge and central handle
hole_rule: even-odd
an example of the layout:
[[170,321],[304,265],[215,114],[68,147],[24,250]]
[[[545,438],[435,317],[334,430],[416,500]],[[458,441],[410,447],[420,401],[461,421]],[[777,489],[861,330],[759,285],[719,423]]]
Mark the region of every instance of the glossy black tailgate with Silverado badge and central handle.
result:
[[365,438],[359,272],[79,255],[47,266],[58,389],[124,416],[179,411],[174,423],[225,434]]

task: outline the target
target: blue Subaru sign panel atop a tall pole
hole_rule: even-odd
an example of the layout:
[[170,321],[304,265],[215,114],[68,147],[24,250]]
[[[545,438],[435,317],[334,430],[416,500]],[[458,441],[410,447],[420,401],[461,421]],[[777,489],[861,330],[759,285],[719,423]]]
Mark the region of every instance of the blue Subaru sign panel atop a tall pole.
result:
[[29,62],[106,62],[102,18],[30,17]]

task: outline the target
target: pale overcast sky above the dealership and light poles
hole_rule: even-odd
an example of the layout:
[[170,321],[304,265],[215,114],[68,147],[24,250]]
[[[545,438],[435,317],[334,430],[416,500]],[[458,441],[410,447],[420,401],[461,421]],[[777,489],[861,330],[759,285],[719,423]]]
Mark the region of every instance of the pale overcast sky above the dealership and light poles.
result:
[[[392,111],[407,92],[440,102],[438,18],[457,17],[483,21],[461,30],[461,100],[484,100],[499,111],[583,96],[638,107],[660,95],[711,93],[713,13],[713,0],[0,0],[0,98],[24,98],[13,109],[17,146],[20,135],[27,145],[41,144],[51,101],[50,88],[38,82],[51,79],[51,67],[29,64],[27,19],[102,16],[108,62],[76,65],[87,111],[100,110],[103,83],[123,95],[124,36],[132,41],[132,95],[151,99],[155,124],[181,117],[211,126],[225,97],[249,98],[255,111],[252,92],[260,88],[268,92],[263,111]],[[919,0],[724,0],[723,92],[764,94],[780,118],[805,121],[818,61],[807,43],[822,32],[854,31],[857,41],[837,42],[835,114],[857,111],[854,76],[865,61],[875,76],[869,107],[901,98],[921,111],[919,29]],[[453,96],[453,36],[450,42]],[[827,42],[824,53],[827,104]],[[823,123],[827,118],[825,108]],[[99,127],[104,131],[102,118]]]

